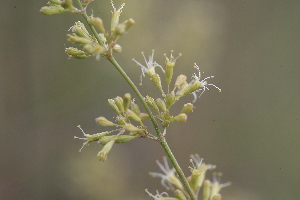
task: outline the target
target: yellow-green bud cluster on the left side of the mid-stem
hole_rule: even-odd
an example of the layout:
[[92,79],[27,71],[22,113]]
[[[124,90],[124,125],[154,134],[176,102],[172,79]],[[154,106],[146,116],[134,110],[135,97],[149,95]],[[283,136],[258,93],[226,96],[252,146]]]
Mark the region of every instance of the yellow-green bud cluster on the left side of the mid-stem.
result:
[[[107,154],[115,143],[125,143],[139,137],[156,139],[155,136],[147,133],[147,127],[143,124],[143,121],[148,119],[149,116],[140,112],[139,106],[134,100],[131,100],[131,95],[129,93],[126,93],[123,98],[117,96],[114,99],[108,99],[108,105],[117,114],[115,118],[116,122],[112,122],[102,116],[96,118],[95,121],[100,126],[113,126],[116,127],[116,129],[90,135],[84,133],[81,126],[78,126],[82,131],[84,138],[76,136],[74,138],[85,140],[79,151],[92,142],[98,142],[99,144],[104,145],[103,149],[98,153],[98,157],[101,161],[105,161],[107,159]],[[138,122],[139,125],[133,125],[131,121]],[[110,135],[113,132],[118,133],[116,135]],[[128,134],[124,135],[126,132]]]

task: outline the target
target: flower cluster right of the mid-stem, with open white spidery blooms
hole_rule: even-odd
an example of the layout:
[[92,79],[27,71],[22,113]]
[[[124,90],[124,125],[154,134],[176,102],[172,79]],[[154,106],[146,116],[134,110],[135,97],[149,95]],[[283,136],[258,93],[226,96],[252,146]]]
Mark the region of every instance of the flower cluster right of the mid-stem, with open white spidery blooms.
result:
[[[217,88],[219,91],[221,91],[220,88],[215,86],[214,84],[208,84],[207,79],[213,78],[213,76],[206,77],[205,79],[201,80],[201,73],[199,67],[194,64],[194,67],[199,71],[199,75],[193,74],[192,80],[188,83],[187,77],[185,75],[179,75],[176,78],[176,81],[174,83],[173,90],[170,90],[170,84],[173,78],[173,70],[174,66],[176,64],[176,60],[182,56],[179,54],[176,58],[172,55],[173,51],[171,51],[170,57],[165,56],[165,69],[159,65],[157,62],[154,61],[154,50],[152,50],[152,55],[149,56],[149,60],[146,59],[144,53],[142,52],[142,55],[144,57],[146,66],[142,65],[140,62],[133,59],[133,61],[139,65],[142,69],[141,74],[141,83],[142,83],[142,77],[145,77],[147,74],[152,81],[152,83],[159,89],[159,91],[162,94],[163,98],[158,98],[156,101],[149,96],[146,96],[144,99],[148,106],[153,108],[158,114],[156,115],[156,118],[159,119],[162,123],[162,126],[165,128],[170,125],[171,122],[177,121],[177,122],[186,122],[187,120],[187,113],[193,111],[193,104],[187,103],[184,104],[181,112],[175,116],[172,116],[170,114],[170,108],[171,106],[176,103],[181,97],[186,96],[188,94],[194,95],[194,101],[195,103],[197,96],[196,92],[202,91],[199,97],[202,95],[202,93],[205,90],[209,90],[207,86],[211,85],[215,88]],[[165,73],[165,79],[166,84],[168,86],[167,92],[164,92],[162,84],[161,84],[161,78],[160,76],[155,72],[155,68],[160,67]],[[141,85],[141,84],[140,84]]]

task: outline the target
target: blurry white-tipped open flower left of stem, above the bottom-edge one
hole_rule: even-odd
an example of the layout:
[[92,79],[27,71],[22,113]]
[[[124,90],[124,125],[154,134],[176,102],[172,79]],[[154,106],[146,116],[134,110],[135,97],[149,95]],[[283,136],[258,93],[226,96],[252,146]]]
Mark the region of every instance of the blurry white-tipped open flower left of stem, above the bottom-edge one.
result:
[[161,178],[161,184],[166,189],[170,189],[173,188],[173,186],[175,186],[177,189],[183,191],[183,185],[181,184],[178,177],[175,175],[175,168],[170,169],[166,157],[163,157],[163,160],[165,166],[163,166],[158,160],[156,161],[156,163],[159,166],[159,168],[164,172],[164,174],[158,172],[150,172],[149,174],[153,177]]

